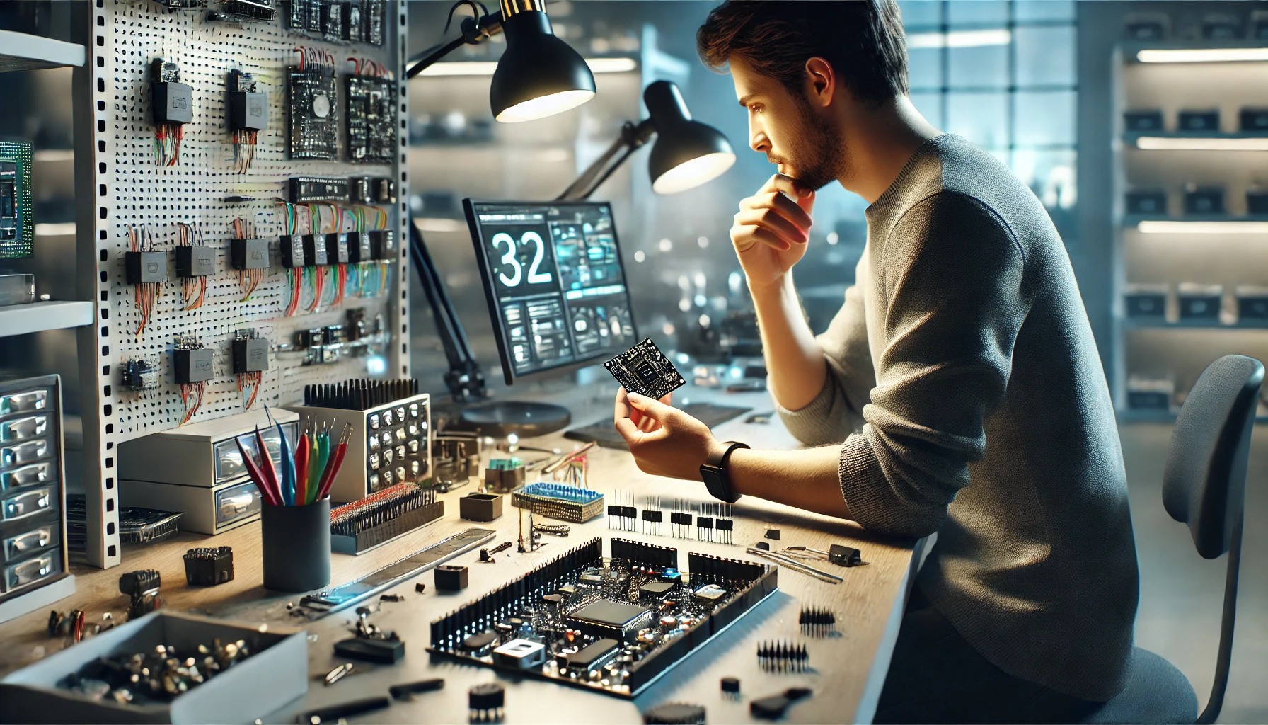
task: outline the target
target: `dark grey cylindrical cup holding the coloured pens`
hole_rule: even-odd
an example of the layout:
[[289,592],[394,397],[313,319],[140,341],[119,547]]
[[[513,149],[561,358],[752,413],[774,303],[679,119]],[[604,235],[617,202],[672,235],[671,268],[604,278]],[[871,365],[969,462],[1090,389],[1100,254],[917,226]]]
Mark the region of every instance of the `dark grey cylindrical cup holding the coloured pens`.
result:
[[330,499],[260,507],[264,588],[312,592],[330,584]]

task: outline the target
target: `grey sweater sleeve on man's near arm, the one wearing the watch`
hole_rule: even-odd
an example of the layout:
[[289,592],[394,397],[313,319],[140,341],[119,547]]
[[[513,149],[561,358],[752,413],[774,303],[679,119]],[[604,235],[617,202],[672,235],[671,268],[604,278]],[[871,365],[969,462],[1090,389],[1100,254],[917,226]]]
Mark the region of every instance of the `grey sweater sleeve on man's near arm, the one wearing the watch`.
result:
[[938,529],[984,422],[1003,401],[1013,343],[1030,309],[1023,253],[989,207],[941,192],[895,223],[874,269],[884,284],[885,350],[862,432],[841,448],[841,490],[864,527]]

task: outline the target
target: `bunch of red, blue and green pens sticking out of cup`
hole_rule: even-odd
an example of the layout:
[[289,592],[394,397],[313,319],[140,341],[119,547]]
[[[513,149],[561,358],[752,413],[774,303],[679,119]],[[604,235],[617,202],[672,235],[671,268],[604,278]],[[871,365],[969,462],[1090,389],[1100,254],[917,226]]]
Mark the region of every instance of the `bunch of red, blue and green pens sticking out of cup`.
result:
[[269,505],[308,505],[317,503],[330,495],[330,488],[339,475],[339,469],[344,463],[344,455],[347,452],[347,442],[351,438],[351,427],[344,425],[339,442],[332,443],[330,429],[325,425],[318,432],[309,423],[304,428],[303,436],[295,443],[292,452],[290,443],[281,430],[281,424],[273,420],[269,406],[264,406],[269,422],[276,427],[281,442],[281,458],[278,469],[273,466],[273,460],[268,456],[264,446],[264,437],[260,428],[255,429],[255,446],[259,451],[259,460],[251,456],[242,437],[236,438],[238,452],[242,453],[242,463],[246,466],[251,480],[260,489],[260,495]]

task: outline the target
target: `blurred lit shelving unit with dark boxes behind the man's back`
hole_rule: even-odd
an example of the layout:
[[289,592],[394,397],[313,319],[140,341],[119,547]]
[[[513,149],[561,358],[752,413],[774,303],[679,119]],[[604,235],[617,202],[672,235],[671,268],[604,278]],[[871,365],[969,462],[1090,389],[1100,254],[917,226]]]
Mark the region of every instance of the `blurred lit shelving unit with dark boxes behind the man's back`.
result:
[[1116,50],[1110,382],[1122,420],[1172,420],[1206,364],[1268,356],[1268,48],[1257,44]]

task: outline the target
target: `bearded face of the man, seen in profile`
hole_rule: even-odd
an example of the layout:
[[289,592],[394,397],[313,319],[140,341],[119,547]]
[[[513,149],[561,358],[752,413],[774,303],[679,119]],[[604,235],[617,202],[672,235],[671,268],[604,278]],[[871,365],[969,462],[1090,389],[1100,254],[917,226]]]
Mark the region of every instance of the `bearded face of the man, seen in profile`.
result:
[[748,110],[748,146],[812,189],[837,180],[846,168],[843,141],[809,99],[754,71],[743,57],[732,56],[729,65],[735,98]]

